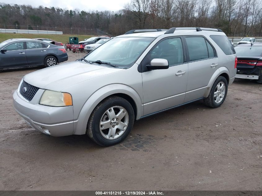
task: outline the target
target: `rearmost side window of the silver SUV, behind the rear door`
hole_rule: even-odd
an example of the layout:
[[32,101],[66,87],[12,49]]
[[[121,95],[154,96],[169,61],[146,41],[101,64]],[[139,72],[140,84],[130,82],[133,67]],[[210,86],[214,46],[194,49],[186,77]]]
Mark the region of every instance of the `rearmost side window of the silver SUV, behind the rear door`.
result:
[[236,54],[234,47],[225,35],[211,35],[212,40],[223,50],[226,55]]

